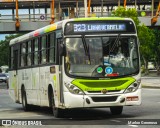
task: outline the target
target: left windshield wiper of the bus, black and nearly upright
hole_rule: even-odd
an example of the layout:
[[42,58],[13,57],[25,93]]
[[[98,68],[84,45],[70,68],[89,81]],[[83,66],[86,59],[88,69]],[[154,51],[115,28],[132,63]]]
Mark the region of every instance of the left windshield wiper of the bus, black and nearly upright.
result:
[[89,64],[91,64],[89,44],[87,45],[85,36],[82,36],[82,42],[83,42],[83,47],[84,47],[85,55],[88,56]]

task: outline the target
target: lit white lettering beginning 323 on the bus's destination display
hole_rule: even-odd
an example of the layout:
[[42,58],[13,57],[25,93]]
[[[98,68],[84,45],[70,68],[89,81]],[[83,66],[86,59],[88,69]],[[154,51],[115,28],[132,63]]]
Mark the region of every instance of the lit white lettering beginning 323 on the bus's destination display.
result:
[[74,32],[125,31],[125,24],[74,24]]

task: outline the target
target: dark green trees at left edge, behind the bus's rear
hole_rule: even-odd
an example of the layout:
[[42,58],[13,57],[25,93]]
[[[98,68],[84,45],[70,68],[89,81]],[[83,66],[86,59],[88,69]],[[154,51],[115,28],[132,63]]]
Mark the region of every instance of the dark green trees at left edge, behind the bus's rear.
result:
[[0,66],[8,65],[9,60],[9,42],[11,39],[20,36],[21,34],[8,35],[5,40],[0,41]]

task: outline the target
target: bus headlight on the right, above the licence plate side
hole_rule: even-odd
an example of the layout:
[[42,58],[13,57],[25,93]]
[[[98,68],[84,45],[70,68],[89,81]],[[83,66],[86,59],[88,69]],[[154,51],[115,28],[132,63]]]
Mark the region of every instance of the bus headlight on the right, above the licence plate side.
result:
[[141,83],[141,80],[134,82],[124,91],[124,93],[135,92],[138,89],[140,83]]

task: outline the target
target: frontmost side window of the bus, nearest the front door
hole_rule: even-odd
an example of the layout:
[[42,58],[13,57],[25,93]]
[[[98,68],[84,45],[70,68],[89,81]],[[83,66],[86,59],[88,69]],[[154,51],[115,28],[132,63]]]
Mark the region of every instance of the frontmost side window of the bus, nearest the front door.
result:
[[56,43],[55,43],[55,33],[51,33],[49,35],[49,62],[55,63],[56,62]]

